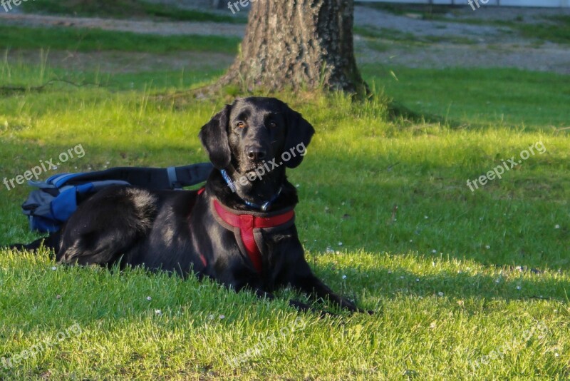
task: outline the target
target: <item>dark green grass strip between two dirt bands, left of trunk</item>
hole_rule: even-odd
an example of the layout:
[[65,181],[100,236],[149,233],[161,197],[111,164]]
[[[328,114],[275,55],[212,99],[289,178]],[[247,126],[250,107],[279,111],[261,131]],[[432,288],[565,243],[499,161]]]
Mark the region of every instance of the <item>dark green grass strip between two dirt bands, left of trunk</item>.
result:
[[0,49],[59,49],[70,51],[236,52],[237,37],[156,36],[100,29],[28,28],[0,26]]

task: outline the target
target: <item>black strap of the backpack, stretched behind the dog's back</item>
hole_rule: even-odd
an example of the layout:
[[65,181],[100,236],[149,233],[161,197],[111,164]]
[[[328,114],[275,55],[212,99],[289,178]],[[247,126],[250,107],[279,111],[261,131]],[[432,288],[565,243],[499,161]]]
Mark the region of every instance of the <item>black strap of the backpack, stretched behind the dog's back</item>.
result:
[[148,189],[177,189],[206,181],[214,166],[212,163],[198,163],[172,168],[173,170],[170,168],[142,167],[109,168],[105,171],[83,173],[70,179],[68,185],[85,183],[86,181],[119,180]]

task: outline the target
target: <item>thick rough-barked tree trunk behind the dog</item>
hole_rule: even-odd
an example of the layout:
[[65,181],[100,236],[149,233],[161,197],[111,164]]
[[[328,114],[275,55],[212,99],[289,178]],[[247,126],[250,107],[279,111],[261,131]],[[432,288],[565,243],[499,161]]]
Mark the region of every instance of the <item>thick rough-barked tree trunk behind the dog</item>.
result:
[[353,0],[255,0],[222,86],[368,92],[353,50]]

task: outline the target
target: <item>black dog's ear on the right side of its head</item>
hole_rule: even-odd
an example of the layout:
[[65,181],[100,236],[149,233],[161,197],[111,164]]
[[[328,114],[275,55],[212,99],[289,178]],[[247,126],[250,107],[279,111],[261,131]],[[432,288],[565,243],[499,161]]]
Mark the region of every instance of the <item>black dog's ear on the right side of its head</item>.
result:
[[307,146],[311,143],[315,129],[300,113],[291,110],[291,108],[289,108],[286,116],[287,136],[285,138],[283,151],[289,151],[289,153],[291,153],[291,150],[293,150],[294,155],[291,154],[291,160],[287,161],[285,165],[289,168],[296,168],[301,164],[301,161],[303,161]]

